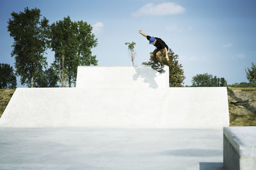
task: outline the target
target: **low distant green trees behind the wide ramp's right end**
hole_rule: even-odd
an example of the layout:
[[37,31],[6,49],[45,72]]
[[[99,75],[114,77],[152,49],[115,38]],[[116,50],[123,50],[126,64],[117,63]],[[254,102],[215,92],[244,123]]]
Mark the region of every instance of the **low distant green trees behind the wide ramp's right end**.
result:
[[192,87],[224,87],[227,86],[227,80],[225,78],[217,78],[212,74],[196,74],[192,77]]

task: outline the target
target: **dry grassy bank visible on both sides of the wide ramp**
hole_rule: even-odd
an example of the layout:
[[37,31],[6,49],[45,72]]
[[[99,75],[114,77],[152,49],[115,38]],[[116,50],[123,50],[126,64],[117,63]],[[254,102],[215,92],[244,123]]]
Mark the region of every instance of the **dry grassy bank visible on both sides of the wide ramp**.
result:
[[[15,89],[0,89],[0,117]],[[256,126],[256,88],[228,88],[230,126]]]

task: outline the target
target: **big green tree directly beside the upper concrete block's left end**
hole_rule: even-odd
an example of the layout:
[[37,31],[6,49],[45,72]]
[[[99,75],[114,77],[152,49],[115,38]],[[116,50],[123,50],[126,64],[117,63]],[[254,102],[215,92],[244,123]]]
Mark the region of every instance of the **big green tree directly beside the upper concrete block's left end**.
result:
[[52,66],[61,87],[76,83],[77,66],[97,65],[98,60],[91,52],[95,46],[97,39],[92,34],[92,26],[86,22],[72,22],[68,16],[51,25],[51,47],[55,52]]

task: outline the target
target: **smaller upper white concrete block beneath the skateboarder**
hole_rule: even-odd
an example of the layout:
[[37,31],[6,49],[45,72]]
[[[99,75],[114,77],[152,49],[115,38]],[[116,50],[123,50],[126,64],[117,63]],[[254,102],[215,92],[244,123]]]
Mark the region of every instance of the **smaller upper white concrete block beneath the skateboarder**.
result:
[[76,87],[169,87],[169,67],[164,70],[166,73],[159,74],[150,66],[78,66]]

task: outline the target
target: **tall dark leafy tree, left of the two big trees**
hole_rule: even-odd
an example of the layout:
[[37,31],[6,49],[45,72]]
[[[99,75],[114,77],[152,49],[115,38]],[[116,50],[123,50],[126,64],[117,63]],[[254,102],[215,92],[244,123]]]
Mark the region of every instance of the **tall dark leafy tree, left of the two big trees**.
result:
[[44,52],[49,43],[49,25],[44,17],[40,20],[40,10],[25,8],[24,12],[12,12],[8,21],[8,31],[13,37],[12,57],[15,57],[16,73],[21,77],[21,84],[34,86],[35,78],[47,66]]

